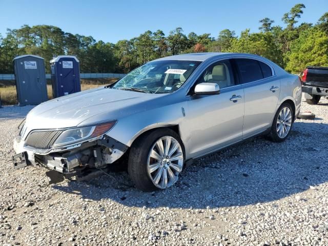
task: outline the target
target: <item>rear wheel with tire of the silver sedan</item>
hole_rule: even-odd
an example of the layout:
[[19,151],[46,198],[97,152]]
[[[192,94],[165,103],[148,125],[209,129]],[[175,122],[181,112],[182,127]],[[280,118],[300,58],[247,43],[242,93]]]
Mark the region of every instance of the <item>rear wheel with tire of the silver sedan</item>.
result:
[[274,142],[284,141],[291,133],[293,119],[293,109],[290,104],[282,104],[273,119],[269,137]]

